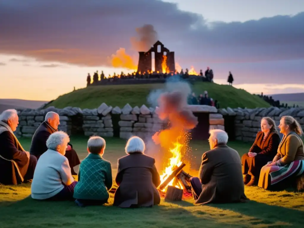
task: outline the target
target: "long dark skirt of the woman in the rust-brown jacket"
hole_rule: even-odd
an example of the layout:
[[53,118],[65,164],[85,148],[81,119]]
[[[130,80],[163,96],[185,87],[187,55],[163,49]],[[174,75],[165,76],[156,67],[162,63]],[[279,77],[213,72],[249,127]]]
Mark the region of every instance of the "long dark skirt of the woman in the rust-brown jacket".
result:
[[267,164],[268,161],[272,161],[273,158],[257,154],[255,157],[249,157],[248,153],[243,154],[242,160],[242,172],[243,174],[249,174],[250,176],[259,177],[261,168]]

